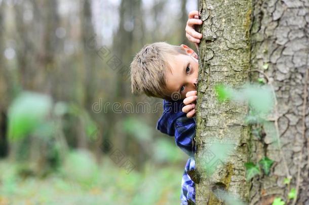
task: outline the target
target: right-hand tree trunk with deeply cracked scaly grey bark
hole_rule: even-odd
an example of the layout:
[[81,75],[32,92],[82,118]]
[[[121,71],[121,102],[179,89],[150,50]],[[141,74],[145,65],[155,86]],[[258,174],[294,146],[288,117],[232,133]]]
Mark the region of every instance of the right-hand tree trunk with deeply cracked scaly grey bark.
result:
[[[275,197],[288,202],[289,191],[296,188],[296,204],[308,204],[305,145],[309,133],[305,129],[309,127],[309,109],[303,95],[305,90],[308,93],[305,82],[308,84],[309,2],[256,0],[253,19],[251,66],[253,70],[264,70],[273,81],[278,104],[271,122],[275,127],[278,125],[280,147],[272,142],[271,136],[266,136],[263,143],[253,140],[252,161],[266,155],[275,162],[269,176],[253,179],[250,203],[271,204]],[[291,183],[286,185],[284,178],[289,176]]]

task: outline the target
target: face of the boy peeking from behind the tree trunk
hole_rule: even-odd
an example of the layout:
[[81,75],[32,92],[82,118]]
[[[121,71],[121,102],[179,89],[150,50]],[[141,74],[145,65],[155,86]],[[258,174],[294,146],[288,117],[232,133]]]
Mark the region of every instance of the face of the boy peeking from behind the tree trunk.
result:
[[198,81],[199,62],[197,54],[185,45],[182,45],[188,55],[173,55],[169,57],[171,72],[166,72],[168,95],[180,94],[181,99],[189,91],[196,91],[195,84]]

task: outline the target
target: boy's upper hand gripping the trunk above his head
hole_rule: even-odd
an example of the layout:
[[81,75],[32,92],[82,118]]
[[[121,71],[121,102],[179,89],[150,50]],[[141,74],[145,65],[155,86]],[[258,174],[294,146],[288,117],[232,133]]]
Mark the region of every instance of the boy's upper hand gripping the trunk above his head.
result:
[[201,42],[200,39],[203,37],[203,35],[197,32],[194,28],[194,25],[201,25],[203,23],[203,21],[199,18],[198,11],[191,11],[185,27],[185,36],[190,42],[195,43],[196,47],[198,47],[198,44]]

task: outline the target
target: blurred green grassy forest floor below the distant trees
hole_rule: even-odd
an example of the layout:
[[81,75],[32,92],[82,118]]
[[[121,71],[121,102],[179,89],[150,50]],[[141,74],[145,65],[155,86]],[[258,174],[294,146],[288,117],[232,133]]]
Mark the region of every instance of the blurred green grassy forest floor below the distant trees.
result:
[[101,166],[70,164],[45,177],[21,175],[20,165],[0,161],[0,205],[179,204],[183,169],[145,163],[126,173],[104,157]]

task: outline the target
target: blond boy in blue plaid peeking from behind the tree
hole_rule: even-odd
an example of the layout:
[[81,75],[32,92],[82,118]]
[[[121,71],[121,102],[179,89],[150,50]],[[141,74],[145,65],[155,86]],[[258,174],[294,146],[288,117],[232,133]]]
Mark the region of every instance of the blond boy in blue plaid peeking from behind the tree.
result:
[[[198,11],[190,12],[185,29],[186,37],[196,46],[202,38],[194,29],[194,25],[202,24],[198,18]],[[175,136],[177,146],[190,156],[181,182],[181,204],[195,202],[195,184],[187,172],[195,169],[198,70],[198,55],[192,49],[164,42],[145,45],[131,63],[132,93],[164,99],[157,129]]]

